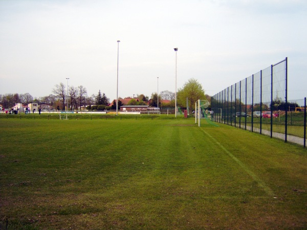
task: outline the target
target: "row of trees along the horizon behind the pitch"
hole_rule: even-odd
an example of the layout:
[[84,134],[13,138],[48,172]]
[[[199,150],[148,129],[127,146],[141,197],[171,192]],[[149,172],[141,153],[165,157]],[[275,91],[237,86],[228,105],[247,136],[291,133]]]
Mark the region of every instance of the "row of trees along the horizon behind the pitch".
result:
[[[79,110],[83,106],[87,106],[86,109],[89,110],[104,110],[104,109],[116,109],[116,101],[113,100],[110,103],[109,98],[101,92],[99,89],[97,95],[87,95],[87,90],[83,85],[69,86],[64,83],[56,84],[52,89],[53,94],[48,96],[43,96],[39,98],[33,98],[29,93],[26,94],[5,94],[0,95],[0,104],[4,108],[12,108],[16,103],[29,104],[31,102],[44,102],[55,109],[58,110]],[[187,107],[187,98],[188,105],[190,110],[194,107],[195,101],[198,99],[210,98],[208,95],[205,95],[205,91],[202,85],[195,79],[189,79],[182,88],[178,89],[177,92],[177,106],[181,108]],[[165,103],[163,100],[169,102]],[[159,105],[158,105],[159,102]],[[151,97],[145,96],[144,94],[137,95],[136,98],[131,99],[127,105],[147,105],[152,107],[160,108],[174,108],[175,106],[175,93],[164,90],[158,93],[152,93]],[[122,98],[118,100],[118,106],[123,105]],[[68,106],[68,108],[67,108]]]

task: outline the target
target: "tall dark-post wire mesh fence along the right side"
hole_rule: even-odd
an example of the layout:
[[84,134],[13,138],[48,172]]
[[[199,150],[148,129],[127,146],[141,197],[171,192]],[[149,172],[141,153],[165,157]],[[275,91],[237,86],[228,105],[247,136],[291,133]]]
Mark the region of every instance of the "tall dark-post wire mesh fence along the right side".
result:
[[305,147],[306,102],[288,101],[287,84],[288,58],[215,94],[211,120]]

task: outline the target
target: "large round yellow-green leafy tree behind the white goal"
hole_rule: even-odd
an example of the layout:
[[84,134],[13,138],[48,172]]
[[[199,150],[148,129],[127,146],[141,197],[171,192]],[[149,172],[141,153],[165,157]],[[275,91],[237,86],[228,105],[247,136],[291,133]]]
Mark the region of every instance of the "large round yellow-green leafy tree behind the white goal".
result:
[[183,85],[183,87],[178,90],[177,106],[186,107],[187,98],[190,111],[192,111],[192,108],[195,106],[195,102],[197,100],[206,100],[205,90],[203,89],[203,86],[194,78],[189,79]]

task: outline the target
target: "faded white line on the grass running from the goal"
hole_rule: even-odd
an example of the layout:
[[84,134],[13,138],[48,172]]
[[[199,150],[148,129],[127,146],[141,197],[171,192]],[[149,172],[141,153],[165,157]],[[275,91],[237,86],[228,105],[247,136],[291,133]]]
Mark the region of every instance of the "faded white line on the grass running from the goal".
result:
[[202,131],[209,136],[218,146],[221,147],[221,149],[223,149],[240,167],[242,167],[259,185],[260,188],[262,188],[263,190],[265,190],[265,192],[269,195],[269,196],[273,196],[274,198],[276,198],[274,196],[273,191],[271,190],[271,188],[269,188],[266,183],[261,180],[259,177],[257,177],[251,170],[248,169],[248,167],[246,165],[244,165],[238,158],[236,158],[231,152],[229,152],[220,142],[218,142],[213,136],[211,136],[208,132],[206,132],[205,130],[202,129]]

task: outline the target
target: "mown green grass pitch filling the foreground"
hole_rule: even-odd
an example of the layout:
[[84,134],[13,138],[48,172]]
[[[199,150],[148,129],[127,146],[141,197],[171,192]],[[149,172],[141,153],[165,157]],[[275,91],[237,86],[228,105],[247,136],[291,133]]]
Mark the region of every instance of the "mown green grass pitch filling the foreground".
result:
[[0,229],[306,229],[307,150],[194,119],[0,119]]

